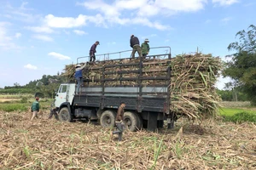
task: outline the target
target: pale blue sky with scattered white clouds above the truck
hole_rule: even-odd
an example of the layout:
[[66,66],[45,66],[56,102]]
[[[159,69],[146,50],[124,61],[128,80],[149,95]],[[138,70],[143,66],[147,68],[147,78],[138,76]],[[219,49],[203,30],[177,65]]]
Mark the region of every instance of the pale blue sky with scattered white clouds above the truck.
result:
[[[96,41],[96,54],[131,50],[131,34],[172,56],[198,48],[225,59],[236,32],[256,25],[255,8],[255,0],[0,0],[0,88],[56,75]],[[166,48],[150,50],[159,53]]]

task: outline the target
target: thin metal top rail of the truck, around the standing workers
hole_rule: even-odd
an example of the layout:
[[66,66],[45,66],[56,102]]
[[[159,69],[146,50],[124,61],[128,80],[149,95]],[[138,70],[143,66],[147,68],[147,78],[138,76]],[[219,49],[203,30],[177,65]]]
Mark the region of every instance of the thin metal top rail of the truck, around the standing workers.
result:
[[[150,49],[157,49],[157,48],[168,48],[168,51],[169,51],[169,53],[167,53],[166,52],[166,55],[168,55],[168,59],[171,59],[171,57],[172,57],[172,54],[171,54],[171,47],[169,47],[169,46],[163,46],[163,47],[154,47],[154,48],[150,48]],[[119,59],[130,59],[130,58],[121,58],[121,54],[124,54],[124,53],[127,53],[127,52],[131,52],[132,51],[132,49],[131,50],[125,50],[125,51],[119,51],[119,52],[115,52],[115,53],[108,53],[108,54],[97,54],[96,55],[96,57],[100,57],[100,56],[104,56],[104,59],[103,60],[106,60],[106,58],[108,57],[109,58],[109,56],[110,55],[113,55],[113,54],[119,54]],[[156,55],[148,55],[148,57],[154,57],[154,56],[156,56]],[[77,59],[77,63],[79,63],[79,59],[85,59],[85,58],[88,58],[88,61],[89,61],[89,59],[90,59],[90,56],[83,56],[83,57],[79,57],[78,59]],[[116,60],[116,59],[111,59],[111,60]]]

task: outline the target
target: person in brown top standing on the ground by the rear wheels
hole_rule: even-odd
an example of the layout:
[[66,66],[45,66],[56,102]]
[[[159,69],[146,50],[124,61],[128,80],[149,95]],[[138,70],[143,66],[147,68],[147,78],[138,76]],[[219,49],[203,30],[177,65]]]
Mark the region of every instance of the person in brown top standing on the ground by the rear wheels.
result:
[[123,131],[125,128],[124,121],[124,113],[125,113],[125,102],[121,102],[119,105],[119,109],[117,112],[117,116],[115,118],[115,125],[117,126],[117,131],[113,131],[113,134],[118,133],[119,134],[119,141],[122,140]]

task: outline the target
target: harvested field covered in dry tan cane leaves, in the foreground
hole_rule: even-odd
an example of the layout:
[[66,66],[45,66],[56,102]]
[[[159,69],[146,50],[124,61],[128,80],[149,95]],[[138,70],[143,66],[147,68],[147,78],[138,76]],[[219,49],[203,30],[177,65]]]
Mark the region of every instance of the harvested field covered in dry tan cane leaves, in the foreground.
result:
[[256,126],[186,119],[158,133],[125,132],[83,122],[30,122],[31,113],[0,112],[0,169],[255,169]]

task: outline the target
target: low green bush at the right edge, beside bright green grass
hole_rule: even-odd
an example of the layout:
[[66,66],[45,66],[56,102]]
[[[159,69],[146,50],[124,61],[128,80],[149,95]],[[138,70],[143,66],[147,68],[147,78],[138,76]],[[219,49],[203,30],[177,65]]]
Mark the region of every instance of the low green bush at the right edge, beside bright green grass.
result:
[[241,111],[233,116],[224,116],[224,120],[228,122],[254,122],[256,123],[256,113],[250,113],[247,111]]

